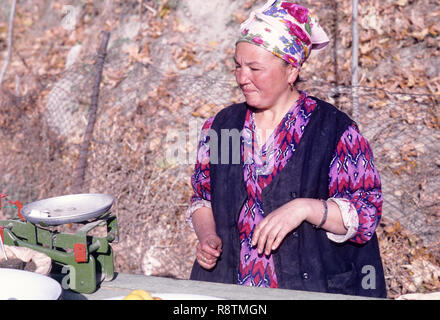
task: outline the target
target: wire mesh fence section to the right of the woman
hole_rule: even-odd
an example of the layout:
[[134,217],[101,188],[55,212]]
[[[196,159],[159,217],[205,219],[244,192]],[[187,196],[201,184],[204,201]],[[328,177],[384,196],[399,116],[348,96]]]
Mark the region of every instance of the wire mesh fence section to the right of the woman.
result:
[[[329,91],[349,96],[351,88]],[[436,97],[369,87],[359,87],[359,93],[359,125],[380,170],[384,215],[427,242],[438,241],[440,110]]]

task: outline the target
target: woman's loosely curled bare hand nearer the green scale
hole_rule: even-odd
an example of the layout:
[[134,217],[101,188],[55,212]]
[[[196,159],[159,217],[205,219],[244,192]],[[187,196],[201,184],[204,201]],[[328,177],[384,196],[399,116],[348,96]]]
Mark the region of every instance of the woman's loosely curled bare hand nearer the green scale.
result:
[[199,240],[196,250],[196,259],[205,269],[212,269],[217,264],[217,259],[222,252],[222,239],[217,234],[208,234]]

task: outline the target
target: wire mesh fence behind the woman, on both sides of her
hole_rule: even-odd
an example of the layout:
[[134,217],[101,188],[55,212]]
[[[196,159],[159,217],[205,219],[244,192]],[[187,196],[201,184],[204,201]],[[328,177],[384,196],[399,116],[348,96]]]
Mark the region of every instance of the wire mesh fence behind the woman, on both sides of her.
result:
[[[106,67],[117,68],[117,61],[107,61]],[[21,117],[2,125],[2,150],[7,154],[2,156],[1,192],[28,203],[72,191],[93,73],[93,64],[81,63],[47,81],[34,98],[42,99],[43,110],[27,106],[26,99],[2,104],[3,116],[14,117],[17,108],[23,110]],[[116,199],[113,210],[122,230],[120,268],[148,272],[164,266],[167,257],[167,269],[187,274],[193,254],[187,242],[194,238],[183,213],[192,192],[197,134],[204,120],[224,106],[209,103],[212,97],[204,93],[213,85],[232,92],[236,85],[233,79],[179,77],[142,64],[127,78],[136,86],[120,83],[102,89],[83,191],[108,193]],[[316,80],[302,86],[351,113],[351,87]],[[358,91],[359,126],[380,170],[384,216],[428,242],[438,240],[438,102],[432,95],[369,87]],[[170,139],[171,129],[183,133],[185,140]],[[176,143],[183,144],[183,158],[167,155]],[[170,249],[186,253],[179,252],[174,256],[179,259],[174,259],[167,253]]]

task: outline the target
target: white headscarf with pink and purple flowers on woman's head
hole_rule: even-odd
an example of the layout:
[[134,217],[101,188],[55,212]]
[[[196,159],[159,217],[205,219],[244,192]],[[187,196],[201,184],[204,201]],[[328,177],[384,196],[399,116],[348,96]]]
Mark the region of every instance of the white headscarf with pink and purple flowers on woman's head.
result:
[[238,42],[258,45],[301,68],[312,50],[322,50],[329,39],[310,11],[289,1],[269,0],[252,11],[240,26]]

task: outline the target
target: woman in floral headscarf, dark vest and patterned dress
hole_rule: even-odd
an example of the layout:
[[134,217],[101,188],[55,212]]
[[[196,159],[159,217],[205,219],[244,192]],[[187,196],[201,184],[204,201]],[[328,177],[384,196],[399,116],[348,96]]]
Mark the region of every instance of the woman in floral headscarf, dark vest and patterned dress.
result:
[[[295,87],[328,42],[288,1],[268,1],[242,24],[234,59],[246,102],[206,121],[192,176],[191,279],[386,296],[369,144],[347,115]],[[240,132],[239,161],[225,132]]]

